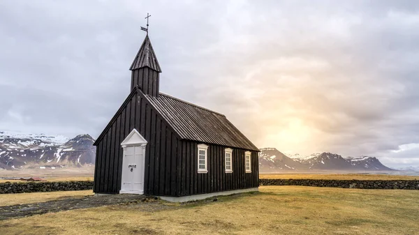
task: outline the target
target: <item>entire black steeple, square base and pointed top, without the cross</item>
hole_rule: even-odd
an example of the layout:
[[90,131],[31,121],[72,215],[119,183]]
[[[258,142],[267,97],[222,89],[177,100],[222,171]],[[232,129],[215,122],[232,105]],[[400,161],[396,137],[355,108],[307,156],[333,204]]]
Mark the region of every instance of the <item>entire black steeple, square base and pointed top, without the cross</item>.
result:
[[148,34],[129,70],[131,70],[131,91],[135,86],[139,86],[143,93],[159,96],[161,68]]

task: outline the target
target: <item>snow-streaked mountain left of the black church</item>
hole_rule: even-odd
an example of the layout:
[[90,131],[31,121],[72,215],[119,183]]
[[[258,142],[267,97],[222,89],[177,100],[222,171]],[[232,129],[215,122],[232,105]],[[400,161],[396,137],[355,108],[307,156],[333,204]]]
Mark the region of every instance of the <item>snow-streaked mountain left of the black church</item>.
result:
[[80,167],[94,164],[96,148],[90,135],[73,139],[0,131],[0,169]]

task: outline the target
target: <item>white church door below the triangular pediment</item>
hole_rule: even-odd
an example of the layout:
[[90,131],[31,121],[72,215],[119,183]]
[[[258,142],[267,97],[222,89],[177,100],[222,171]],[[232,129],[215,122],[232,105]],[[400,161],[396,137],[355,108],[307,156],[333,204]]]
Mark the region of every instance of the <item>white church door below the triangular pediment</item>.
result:
[[122,184],[119,193],[143,194],[145,146],[126,146],[122,160]]

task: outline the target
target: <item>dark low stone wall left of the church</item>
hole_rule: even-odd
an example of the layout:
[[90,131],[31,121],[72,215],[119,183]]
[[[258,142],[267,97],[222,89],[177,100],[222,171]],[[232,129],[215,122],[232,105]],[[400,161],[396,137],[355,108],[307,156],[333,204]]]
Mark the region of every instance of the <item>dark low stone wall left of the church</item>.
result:
[[0,194],[20,192],[53,192],[91,190],[93,181],[0,183]]

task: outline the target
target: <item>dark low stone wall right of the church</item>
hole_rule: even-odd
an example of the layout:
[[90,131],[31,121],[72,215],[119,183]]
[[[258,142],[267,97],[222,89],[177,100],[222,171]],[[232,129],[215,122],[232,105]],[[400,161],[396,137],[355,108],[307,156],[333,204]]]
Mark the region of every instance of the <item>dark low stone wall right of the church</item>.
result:
[[419,190],[419,181],[359,181],[333,179],[259,179],[260,185],[300,185],[334,188],[406,189]]

